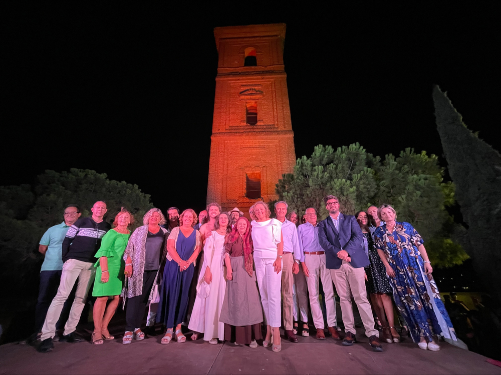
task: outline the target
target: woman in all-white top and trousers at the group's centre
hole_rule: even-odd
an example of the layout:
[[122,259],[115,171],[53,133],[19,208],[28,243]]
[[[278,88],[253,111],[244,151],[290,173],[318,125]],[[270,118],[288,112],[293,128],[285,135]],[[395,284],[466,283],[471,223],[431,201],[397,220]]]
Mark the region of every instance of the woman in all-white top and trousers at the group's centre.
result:
[[[270,218],[270,208],[265,202],[256,202],[249,209],[253,221],[252,240],[254,242],[254,263],[258,279],[261,302],[267,323],[263,346],[272,345],[273,351],[282,349],[280,338],[282,286],[282,222]],[[273,330],[273,332],[272,332]]]

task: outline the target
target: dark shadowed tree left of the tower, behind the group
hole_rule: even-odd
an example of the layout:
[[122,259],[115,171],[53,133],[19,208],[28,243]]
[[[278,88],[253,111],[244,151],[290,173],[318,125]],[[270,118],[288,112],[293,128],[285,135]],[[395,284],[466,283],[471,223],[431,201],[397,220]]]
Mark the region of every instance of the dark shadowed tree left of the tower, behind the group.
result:
[[82,216],[91,214],[97,200],[105,200],[108,212],[104,219],[113,222],[122,206],[142,224],[142,216],[153,207],[150,195],[137,185],[110,180],[106,173],[72,168],[70,171],[46,170],[38,176],[35,186],[0,186],[0,252],[8,267],[0,273],[3,298],[37,294],[43,255],[38,244],[44,232],[61,223],[64,208],[78,204]]

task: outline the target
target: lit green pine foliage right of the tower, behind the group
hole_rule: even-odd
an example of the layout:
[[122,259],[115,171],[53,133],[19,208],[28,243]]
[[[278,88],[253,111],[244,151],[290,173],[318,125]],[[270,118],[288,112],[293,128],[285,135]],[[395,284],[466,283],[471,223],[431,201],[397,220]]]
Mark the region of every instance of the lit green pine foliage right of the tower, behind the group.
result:
[[328,214],[323,202],[328,194],[338,197],[347,214],[391,204],[398,220],[410,222],[427,240],[434,265],[446,267],[468,256],[451,239],[454,224],[445,206],[454,202],[454,185],[443,182],[443,173],[437,157],[425,151],[406,148],[399,157],[388,154],[382,160],[359,143],[336,150],[318,145],[310,158],[298,158],[294,173],[284,174],[276,191],[292,209],[315,207],[319,217]]

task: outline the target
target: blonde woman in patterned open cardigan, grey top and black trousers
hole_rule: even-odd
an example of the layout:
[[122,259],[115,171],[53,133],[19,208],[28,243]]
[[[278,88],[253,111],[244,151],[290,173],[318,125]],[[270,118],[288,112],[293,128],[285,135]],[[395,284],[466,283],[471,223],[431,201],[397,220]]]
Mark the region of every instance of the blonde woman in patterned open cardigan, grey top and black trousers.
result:
[[162,260],[167,253],[165,233],[167,229],[165,216],[159,208],[151,208],[143,216],[143,226],[138,227],[129,238],[123,258],[125,259],[125,276],[127,280],[122,296],[127,301],[125,312],[125,334],[122,343],[129,344],[134,337],[144,338],[141,323],[148,300],[158,283],[158,274]]

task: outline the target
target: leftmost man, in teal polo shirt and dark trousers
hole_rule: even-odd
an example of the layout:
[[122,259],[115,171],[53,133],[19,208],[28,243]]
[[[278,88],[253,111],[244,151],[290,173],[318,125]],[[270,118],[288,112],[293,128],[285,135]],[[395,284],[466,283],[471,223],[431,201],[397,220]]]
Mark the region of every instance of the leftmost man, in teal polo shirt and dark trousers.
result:
[[45,255],[45,259],[40,270],[40,289],[35,315],[35,337],[42,329],[47,310],[58,291],[61,281],[63,240],[70,226],[78,220],[81,214],[78,205],[69,204],[64,210],[64,221],[47,229],[40,240],[38,250]]

